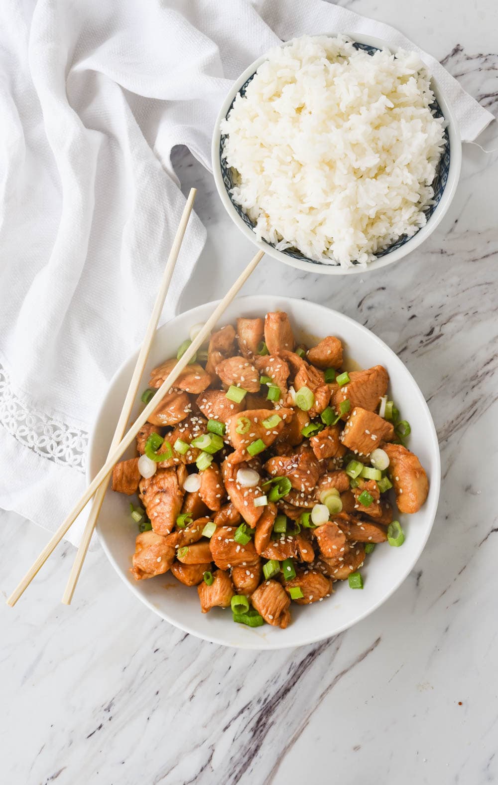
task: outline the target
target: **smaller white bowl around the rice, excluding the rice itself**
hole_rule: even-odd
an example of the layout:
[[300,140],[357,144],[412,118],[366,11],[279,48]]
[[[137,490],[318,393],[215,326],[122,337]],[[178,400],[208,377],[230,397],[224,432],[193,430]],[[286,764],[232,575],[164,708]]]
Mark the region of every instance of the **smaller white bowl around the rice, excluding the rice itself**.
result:
[[[324,35],[336,34],[325,33]],[[355,33],[354,35],[347,35],[347,37],[363,46],[372,46],[376,49],[389,49],[393,53],[396,52],[394,47],[390,46],[381,38],[375,38],[373,35],[359,35]],[[288,44],[289,42],[285,42],[282,44],[282,46],[287,46]],[[258,246],[261,250],[264,250],[264,252],[269,256],[278,259],[278,261],[283,261],[285,265],[290,265],[291,267],[296,267],[300,270],[307,270],[309,272],[313,272],[315,275],[317,273],[323,273],[329,276],[343,276],[354,275],[355,273],[359,272],[363,274],[365,272],[378,270],[380,267],[385,267],[386,265],[391,265],[394,261],[402,259],[407,254],[410,254],[413,250],[418,248],[418,246],[420,246],[420,244],[423,243],[423,241],[427,239],[427,237],[431,235],[432,232],[434,232],[434,229],[438,226],[439,222],[442,220],[442,217],[447,212],[456,192],[456,186],[458,184],[458,178],[460,177],[460,166],[462,162],[462,146],[458,123],[456,122],[455,115],[453,115],[453,111],[450,108],[449,103],[446,101],[444,94],[442,93],[442,89],[434,77],[431,79],[431,88],[439,104],[442,115],[446,121],[448,130],[448,144],[447,150],[442,156],[442,162],[440,164],[441,170],[436,177],[437,183],[435,184],[434,188],[434,201],[439,199],[438,204],[434,208],[434,212],[432,212],[428,218],[427,224],[419,229],[419,231],[416,232],[413,237],[398,240],[397,243],[394,243],[391,247],[387,248],[387,250],[383,251],[383,253],[380,254],[380,256],[377,257],[375,261],[372,261],[369,265],[354,265],[353,267],[348,268],[343,268],[340,265],[327,265],[325,262],[316,261],[310,259],[309,257],[305,257],[299,252],[295,254],[295,252],[292,250],[277,250],[277,248],[275,248],[271,243],[256,239],[253,229],[250,228],[251,222],[249,217],[242,217],[241,214],[239,214],[240,207],[234,205],[231,200],[231,196],[229,195],[230,183],[227,178],[227,173],[225,173],[224,176],[221,164],[220,122],[227,116],[234,98],[241,88],[245,86],[245,82],[247,82],[248,79],[253,76],[257,68],[260,67],[260,64],[262,64],[266,59],[267,55],[259,57],[253,62],[253,64],[249,65],[249,68],[246,68],[244,73],[237,79],[236,82],[234,82],[230,92],[227,94],[227,97],[222,104],[222,107],[220,108],[220,114],[216,118],[216,123],[214,126],[213,141],[211,146],[214,181],[216,183],[216,189],[220,195],[221,202],[223,203],[224,208],[227,210],[227,213],[231,217],[232,221],[234,221],[241,232],[243,232],[249,240],[255,243],[256,246]]]

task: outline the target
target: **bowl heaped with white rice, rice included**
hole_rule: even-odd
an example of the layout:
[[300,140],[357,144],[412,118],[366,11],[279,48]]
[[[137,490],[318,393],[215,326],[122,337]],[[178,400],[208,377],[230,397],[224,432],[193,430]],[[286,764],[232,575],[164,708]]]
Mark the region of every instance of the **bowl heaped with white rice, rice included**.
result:
[[234,83],[213,134],[216,188],[267,254],[314,273],[405,257],[449,208],[460,133],[416,53],[378,38],[294,38]]

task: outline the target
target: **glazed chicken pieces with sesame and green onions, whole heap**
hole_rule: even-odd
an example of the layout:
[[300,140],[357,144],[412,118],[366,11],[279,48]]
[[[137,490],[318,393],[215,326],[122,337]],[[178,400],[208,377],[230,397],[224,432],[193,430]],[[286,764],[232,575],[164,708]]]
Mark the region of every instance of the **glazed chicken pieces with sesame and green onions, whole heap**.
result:
[[[154,368],[144,402],[175,363]],[[170,571],[202,613],[282,629],[337,581],[362,589],[375,546],[404,542],[394,503],[416,513],[429,487],[388,386],[380,365],[345,371],[336,336],[300,345],[283,312],[213,333],[113,472],[142,504],[133,577]]]

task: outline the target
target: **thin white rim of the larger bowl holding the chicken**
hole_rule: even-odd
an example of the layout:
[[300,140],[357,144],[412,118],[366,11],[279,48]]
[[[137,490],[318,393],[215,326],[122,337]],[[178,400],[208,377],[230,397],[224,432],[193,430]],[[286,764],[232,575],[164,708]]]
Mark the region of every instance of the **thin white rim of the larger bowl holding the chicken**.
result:
[[[289,297],[285,297],[285,295],[272,295],[272,294],[248,294],[248,295],[245,295],[245,296],[243,296],[241,298],[235,298],[235,301],[267,301],[270,298],[274,298],[274,299],[278,298],[279,303],[282,303],[282,302],[285,302],[285,303],[296,303],[296,304],[299,303],[300,306],[303,305],[303,300],[300,299],[300,298],[289,298]],[[197,305],[193,309],[189,309],[187,311],[184,311],[181,314],[176,314],[176,316],[173,316],[171,319],[169,319],[161,327],[158,328],[158,333],[159,334],[160,333],[167,333],[169,330],[171,330],[172,324],[174,324],[176,319],[179,319],[180,316],[188,316],[189,314],[191,314],[191,316],[194,319],[194,321],[199,321],[199,318],[198,318],[198,312],[199,311],[202,311],[202,310],[204,310],[206,308],[214,310],[214,308],[216,307],[216,305],[219,302],[220,302],[220,300],[211,301],[209,303],[205,303],[205,304],[202,304],[202,305]],[[405,374],[409,374],[409,378],[410,378],[410,380],[412,382],[412,385],[413,385],[413,396],[418,400],[418,402],[420,403],[420,406],[422,407],[422,409],[423,409],[423,411],[424,411],[424,413],[426,414],[426,417],[427,417],[427,422],[428,422],[428,425],[429,425],[429,430],[428,430],[428,433],[427,433],[427,441],[428,442],[430,441],[430,450],[431,450],[431,453],[434,455],[434,469],[433,469],[433,471],[431,473],[431,487],[433,488],[433,490],[435,490],[435,493],[433,493],[432,506],[431,506],[431,508],[427,509],[427,522],[428,522],[428,524],[427,524],[427,531],[425,533],[425,536],[421,540],[421,542],[420,542],[416,552],[413,553],[413,558],[410,560],[409,565],[400,574],[398,580],[393,582],[393,585],[387,591],[387,593],[385,593],[383,595],[383,597],[380,597],[380,599],[375,604],[373,604],[372,607],[369,607],[367,610],[365,610],[363,612],[359,612],[358,615],[351,617],[351,619],[349,619],[347,621],[347,623],[344,623],[344,624],[338,626],[332,633],[318,632],[317,634],[313,634],[311,636],[308,635],[307,637],[304,638],[303,641],[300,641],[300,643],[298,643],[298,644],[296,644],[294,642],[285,642],[285,640],[282,640],[282,643],[277,640],[277,641],[274,641],[274,642],[270,641],[270,642],[265,642],[264,644],[262,644],[262,641],[258,637],[254,637],[254,638],[252,638],[252,637],[249,638],[248,637],[247,641],[242,641],[242,642],[238,642],[238,643],[232,643],[232,642],[228,642],[227,640],[224,640],[223,638],[217,636],[216,634],[211,634],[211,635],[209,633],[202,634],[198,630],[192,629],[191,626],[189,626],[188,624],[182,623],[181,621],[178,621],[177,619],[174,619],[171,615],[169,615],[168,613],[164,612],[162,610],[162,608],[158,608],[158,606],[156,606],[154,604],[154,602],[150,601],[140,591],[140,582],[139,582],[138,585],[135,585],[134,583],[129,582],[129,580],[127,579],[127,575],[122,570],[121,566],[118,564],[118,561],[115,559],[113,553],[111,553],[111,550],[110,550],[109,546],[107,546],[107,542],[106,542],[105,536],[100,531],[100,522],[99,522],[99,520],[97,520],[96,535],[97,535],[98,540],[100,542],[100,546],[104,550],[104,553],[106,554],[107,559],[111,562],[113,568],[115,568],[115,571],[118,573],[119,577],[125,583],[125,586],[127,586],[129,588],[129,590],[131,590],[133,592],[133,594],[142,603],[147,605],[147,607],[151,611],[153,611],[155,614],[157,614],[161,619],[164,619],[166,622],[168,622],[172,626],[176,627],[177,629],[183,630],[184,632],[189,633],[191,635],[194,635],[195,637],[198,637],[200,640],[208,641],[209,643],[223,645],[223,646],[227,646],[229,648],[242,648],[242,649],[249,649],[249,650],[253,650],[253,651],[256,651],[256,650],[258,650],[258,651],[270,651],[270,650],[278,650],[278,649],[285,649],[285,648],[298,648],[300,646],[306,646],[306,645],[309,645],[309,644],[314,644],[314,643],[317,643],[318,641],[324,641],[324,640],[326,640],[329,637],[333,637],[334,635],[342,633],[342,632],[344,632],[344,630],[348,630],[350,627],[352,627],[355,624],[357,624],[358,622],[362,621],[362,619],[365,619],[367,616],[369,616],[374,611],[376,611],[378,608],[380,608],[380,606],[383,605],[389,599],[389,597],[391,597],[394,594],[394,592],[398,590],[399,586],[401,586],[402,583],[405,582],[405,579],[408,577],[409,573],[415,567],[416,562],[420,559],[420,555],[423,553],[423,550],[424,550],[424,548],[425,548],[425,546],[427,544],[427,540],[429,539],[429,535],[431,535],[432,527],[434,526],[434,520],[435,520],[435,517],[436,517],[436,513],[438,511],[439,495],[440,495],[440,491],[441,491],[441,456],[440,456],[440,453],[439,453],[438,436],[437,436],[436,429],[435,429],[435,426],[434,426],[434,422],[433,422],[433,419],[432,419],[431,411],[430,411],[429,407],[427,406],[427,401],[425,400],[425,398],[423,396],[423,393],[420,390],[419,385],[416,383],[416,380],[413,377],[413,374],[411,374],[409,369],[407,367],[405,367],[405,363],[403,363],[402,360],[400,360],[400,358],[396,355],[396,353],[384,341],[382,341],[381,338],[379,338],[375,333],[373,333],[372,330],[369,330],[368,327],[365,327],[361,323],[355,321],[355,319],[351,319],[351,316],[345,316],[344,314],[342,314],[342,313],[340,313],[340,312],[338,312],[338,311],[336,311],[334,309],[328,308],[326,305],[322,305],[321,303],[313,303],[313,305],[314,305],[315,308],[317,308],[318,310],[321,310],[323,312],[324,319],[330,319],[331,316],[339,317],[340,319],[344,319],[344,321],[346,323],[350,323],[350,324],[354,325],[354,327],[359,328],[361,333],[368,334],[369,337],[373,339],[374,343],[376,343],[376,345],[379,345],[381,349],[387,351],[390,363],[393,363],[394,365],[398,365],[398,367],[402,368],[402,370],[403,370],[403,372]],[[254,307],[257,308],[258,306],[255,305]],[[266,308],[266,306],[264,306],[264,308]],[[200,318],[203,319],[205,317],[202,316]],[[322,323],[322,320],[321,320],[321,323]],[[323,322],[323,323],[325,323],[325,322]],[[104,408],[105,408],[106,403],[107,403],[107,397],[109,396],[111,390],[113,389],[113,387],[115,385],[115,382],[117,381],[118,377],[125,370],[126,365],[128,365],[130,363],[130,360],[133,360],[134,358],[136,358],[136,355],[138,354],[139,350],[140,349],[137,348],[134,352],[131,352],[130,355],[120,365],[120,367],[118,367],[118,370],[115,371],[115,374],[113,375],[113,377],[111,378],[111,381],[109,382],[109,385],[107,386],[107,391],[106,391],[105,395],[102,397],[102,400],[100,401],[100,406],[99,406],[98,411],[96,412],[94,425],[93,425],[91,433],[89,434],[88,462],[87,462],[86,470],[85,470],[85,479],[86,479],[86,482],[88,484],[91,482],[91,480],[93,479],[93,476],[94,476],[94,473],[92,472],[93,452],[95,450],[98,450],[98,447],[96,447],[96,436],[97,436],[98,431],[99,431],[98,425],[99,425],[99,422],[100,422],[100,418],[101,418],[101,416],[103,414]],[[110,492],[111,491],[109,490],[109,488],[107,488],[107,493],[110,493]]]

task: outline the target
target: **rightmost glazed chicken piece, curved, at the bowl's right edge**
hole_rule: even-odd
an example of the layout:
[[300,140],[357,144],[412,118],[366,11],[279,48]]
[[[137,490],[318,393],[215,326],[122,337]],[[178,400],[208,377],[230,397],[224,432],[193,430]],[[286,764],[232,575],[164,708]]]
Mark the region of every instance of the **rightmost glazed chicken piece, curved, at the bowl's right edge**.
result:
[[402,444],[384,444],[389,456],[389,476],[400,513],[418,513],[427,499],[429,481],[415,453]]

